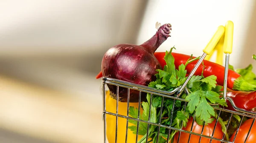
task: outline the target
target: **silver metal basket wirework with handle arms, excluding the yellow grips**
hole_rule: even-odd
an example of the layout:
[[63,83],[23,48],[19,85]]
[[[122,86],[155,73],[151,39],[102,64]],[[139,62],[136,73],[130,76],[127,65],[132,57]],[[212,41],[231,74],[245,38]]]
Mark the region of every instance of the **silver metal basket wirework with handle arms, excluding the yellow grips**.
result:
[[[223,33],[222,33],[223,34]],[[221,35],[218,35],[218,37],[221,37]],[[233,34],[233,33],[232,33]],[[213,38],[214,39],[214,38]],[[218,39],[219,40],[219,39]],[[215,41],[215,43],[218,42],[218,40]],[[216,45],[216,44],[215,44]],[[244,140],[244,143],[246,143],[246,140],[248,139],[249,137],[249,134],[250,134],[250,131],[251,129],[253,128],[253,124],[255,122],[255,119],[256,119],[256,112],[253,112],[253,111],[250,111],[250,110],[244,110],[244,109],[240,109],[238,107],[236,107],[234,101],[232,98],[230,97],[227,97],[226,95],[226,92],[227,92],[227,70],[228,70],[228,62],[229,62],[229,53],[226,53],[226,62],[225,62],[225,76],[224,76],[224,98],[230,102],[230,104],[233,106],[233,108],[236,110],[236,111],[232,111],[232,110],[228,110],[228,109],[224,109],[224,108],[221,108],[221,107],[218,107],[214,104],[212,104],[211,106],[217,111],[217,115],[216,115],[216,122],[214,124],[214,128],[212,130],[212,133],[210,135],[203,135],[203,132],[204,132],[204,127],[205,127],[205,123],[203,124],[203,127],[202,127],[202,131],[201,133],[195,133],[195,132],[192,132],[192,127],[189,131],[187,130],[184,130],[182,128],[174,128],[172,127],[172,118],[173,118],[173,112],[174,112],[174,107],[172,108],[172,114],[171,114],[171,117],[170,118],[170,126],[166,126],[166,125],[163,125],[161,124],[161,120],[162,118],[159,118],[159,121],[154,123],[154,122],[151,122],[150,121],[150,113],[151,113],[151,105],[152,105],[152,96],[161,96],[162,97],[162,104],[161,104],[161,111],[160,111],[160,117],[161,117],[161,114],[162,114],[162,109],[163,109],[163,100],[164,99],[172,99],[174,101],[174,104],[173,106],[175,105],[175,102],[177,101],[180,101],[180,102],[183,102],[184,103],[184,106],[186,107],[187,105],[187,101],[185,101],[183,98],[179,98],[179,95],[180,93],[182,93],[183,91],[188,94],[188,91],[186,90],[186,84],[188,83],[189,79],[194,75],[195,73],[195,70],[197,70],[199,64],[201,64],[201,62],[203,61],[203,59],[206,57],[206,53],[204,53],[201,58],[198,60],[198,63],[195,65],[194,69],[191,71],[191,73],[189,74],[188,78],[186,79],[185,83],[183,85],[181,85],[180,87],[176,88],[175,90],[172,90],[172,91],[164,91],[164,90],[158,90],[158,89],[155,89],[155,88],[152,88],[152,87],[147,87],[147,86],[143,86],[143,85],[139,85],[139,84],[134,84],[134,83],[131,83],[131,82],[127,82],[127,81],[121,81],[121,80],[118,80],[118,79],[112,79],[112,78],[108,78],[108,77],[102,77],[102,95],[103,95],[103,119],[104,119],[104,143],[107,143],[108,142],[108,139],[107,139],[107,118],[106,118],[106,115],[108,116],[111,116],[111,117],[114,117],[115,118],[115,121],[114,123],[111,123],[111,126],[113,128],[113,126],[115,126],[114,128],[114,132],[111,133],[111,137],[114,138],[114,140],[112,140],[112,142],[115,142],[117,143],[118,141],[118,129],[120,124],[118,123],[120,119],[125,119],[126,120],[126,124],[122,124],[122,129],[125,129],[125,132],[122,132],[122,137],[123,138],[123,141],[122,143],[131,143],[128,141],[129,137],[128,137],[128,122],[129,120],[133,120],[133,121],[136,121],[137,122],[137,132],[136,134],[134,134],[135,136],[135,140],[134,140],[134,143],[137,143],[138,141],[138,138],[139,138],[139,135],[138,135],[138,131],[139,131],[139,126],[140,126],[140,123],[146,123],[147,124],[147,134],[146,134],[146,143],[147,142],[150,142],[150,139],[148,139],[148,132],[149,132],[149,126],[150,125],[154,125],[154,126],[157,126],[158,128],[158,134],[157,134],[157,141],[156,143],[158,143],[158,136],[159,136],[159,133],[160,133],[160,128],[165,128],[167,130],[169,130],[169,132],[175,130],[177,131],[177,134],[178,134],[178,138],[177,138],[177,143],[180,143],[180,135],[181,133],[187,133],[189,134],[189,139],[186,143],[192,143],[192,141],[190,141],[190,138],[191,137],[198,137],[199,140],[198,142],[199,143],[203,143],[201,142],[201,140],[203,138],[207,138],[209,139],[209,143],[234,143],[234,141],[236,140],[236,135],[239,131],[239,128],[242,124],[242,121],[244,118],[253,118],[253,122],[252,124],[250,125],[250,129],[247,133],[247,136]],[[116,103],[115,103],[115,106],[116,108],[114,110],[108,110],[107,109],[107,105],[106,105],[106,98],[107,98],[107,84],[111,84],[112,86],[116,86],[116,90],[117,90],[117,94],[116,94]],[[127,112],[124,114],[120,114],[119,113],[119,104],[122,104],[122,106],[124,106],[123,102],[119,102],[119,88],[127,88],[128,89],[128,94],[127,94],[127,99],[128,101],[125,102],[125,107],[127,108]],[[134,118],[134,117],[131,117],[129,115],[129,107],[130,107],[130,102],[129,102],[129,99],[130,99],[130,90],[137,90],[139,91],[139,102],[137,103],[138,104],[138,115],[137,115],[137,118]],[[142,120],[140,118],[140,104],[141,104],[141,95],[142,93],[147,93],[151,96],[150,98],[150,102],[149,102],[149,115],[148,115],[148,120]],[[132,103],[134,104],[134,103]],[[234,115],[238,115],[241,120],[240,122],[238,123],[238,126],[237,128],[235,129],[235,137],[233,140],[226,140],[225,138],[225,134],[222,136],[222,138],[216,138],[214,137],[214,133],[215,133],[215,129],[216,129],[216,126],[217,126],[217,122],[219,120],[219,117],[220,115],[222,115],[222,113],[225,113],[226,115],[226,118],[227,118],[227,124],[226,124],[226,128],[228,129],[229,126],[232,126],[230,125],[230,121],[232,121],[232,119],[234,118]],[[192,121],[192,124],[195,122],[195,117],[193,118],[193,121]],[[166,137],[166,140],[169,140],[169,132],[168,132],[168,136]],[[110,143],[112,143],[110,142]],[[121,142],[118,142],[118,143],[121,143]],[[205,143],[205,142],[204,142]]]

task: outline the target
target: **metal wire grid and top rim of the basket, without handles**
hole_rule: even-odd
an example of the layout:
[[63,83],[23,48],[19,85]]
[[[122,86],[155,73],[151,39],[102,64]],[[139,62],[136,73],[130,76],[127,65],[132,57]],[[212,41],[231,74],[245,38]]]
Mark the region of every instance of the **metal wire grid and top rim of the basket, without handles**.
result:
[[[149,121],[149,119],[150,119],[150,117],[148,118],[148,121],[144,121],[144,120],[141,120],[140,119],[140,114],[138,114],[138,117],[137,118],[132,118],[131,116],[129,116],[129,111],[127,111],[127,115],[121,115],[121,114],[119,114],[118,113],[118,106],[119,106],[119,101],[118,100],[116,100],[116,112],[109,112],[109,111],[107,111],[106,110],[106,84],[112,84],[112,85],[115,85],[116,87],[117,87],[117,90],[119,90],[119,87],[125,87],[125,88],[128,88],[128,91],[129,90],[138,90],[138,91],[140,91],[140,94],[139,94],[139,99],[141,99],[141,93],[142,92],[145,92],[145,93],[149,93],[150,95],[151,95],[151,97],[152,97],[152,95],[158,95],[158,96],[162,96],[162,97],[164,97],[164,98],[170,98],[170,99],[173,99],[174,100],[174,102],[175,101],[183,101],[183,102],[185,102],[185,103],[187,103],[184,99],[182,99],[182,98],[178,98],[178,97],[175,97],[175,96],[171,96],[170,94],[174,94],[176,91],[173,91],[173,92],[166,92],[166,91],[162,91],[162,90],[157,90],[157,89],[154,89],[154,88],[151,88],[151,87],[146,87],[146,86],[142,86],[142,85],[138,85],[138,84],[133,84],[133,83],[130,83],[130,82],[126,82],[126,81],[120,81],[120,80],[117,80],[117,79],[111,79],[111,78],[106,78],[106,77],[103,77],[102,78],[102,92],[103,92],[103,107],[104,107],[104,109],[103,109],[103,118],[104,118],[104,143],[107,143],[107,137],[106,137],[106,131],[107,131],[107,129],[106,129],[106,122],[107,122],[107,120],[106,120],[106,114],[107,115],[112,115],[112,116],[115,116],[116,117],[116,133],[115,134],[113,134],[113,137],[115,137],[115,140],[116,140],[116,142],[117,142],[117,129],[118,129],[118,119],[119,118],[125,118],[125,119],[127,119],[127,121],[126,121],[126,125],[122,125],[122,127],[123,128],[125,128],[125,130],[126,130],[126,132],[125,132],[125,143],[127,143],[127,132],[128,132],[128,119],[131,119],[131,120],[134,120],[134,121],[137,121],[137,135],[136,135],[136,140],[138,140],[138,126],[139,126],[139,122],[142,122],[142,123],[147,123],[148,124],[148,126],[149,126],[149,124],[151,124],[151,125],[154,125],[154,126],[157,126],[158,127],[158,130],[160,129],[160,127],[164,127],[164,128],[166,128],[166,129],[169,129],[169,130],[176,130],[176,131],[180,131],[180,132],[185,132],[185,133],[189,133],[190,134],[190,136],[191,135],[196,135],[196,136],[198,136],[198,137],[200,137],[200,140],[201,140],[201,137],[205,137],[205,138],[209,138],[209,139],[211,139],[211,142],[212,142],[212,140],[217,140],[217,141],[220,141],[220,143],[221,142],[223,142],[223,143],[232,143],[232,142],[230,142],[230,141],[228,141],[228,140],[225,140],[224,139],[224,135],[223,135],[223,137],[222,137],[222,139],[218,139],[218,138],[215,138],[215,137],[213,137],[213,135],[214,135],[214,132],[215,132],[215,127],[216,127],[216,124],[217,124],[217,122],[215,123],[215,126],[214,126],[214,130],[212,131],[212,136],[206,136],[206,135],[202,135],[202,133],[203,133],[203,130],[204,130],[204,126],[205,125],[203,125],[203,129],[202,129],[202,132],[201,132],[201,134],[198,134],[198,133],[194,133],[194,132],[192,132],[192,128],[191,128],[191,130],[190,131],[186,131],[186,130],[183,130],[183,129],[177,129],[177,128],[174,128],[174,127],[171,127],[171,126],[164,126],[164,125],[161,125],[160,124],[160,122],[161,121],[159,121],[159,123],[152,123],[152,122],[150,122]],[[118,92],[117,92],[118,93]],[[129,93],[129,92],[128,92]],[[118,95],[117,95],[118,96]],[[129,107],[129,94],[127,95],[128,97],[128,102],[127,102],[127,108]],[[163,98],[163,99],[164,99]],[[118,99],[118,98],[117,98]],[[228,98],[228,100],[230,100],[231,101],[231,103],[232,103],[232,98]],[[163,102],[162,102],[163,103]],[[139,104],[140,104],[140,101],[139,101]],[[152,101],[151,101],[151,103],[150,104],[152,104]],[[140,105],[138,105],[138,106],[140,106]],[[186,104],[185,104],[185,106],[186,106]],[[149,107],[151,107],[151,105],[149,106]],[[163,107],[163,104],[161,105],[161,108]],[[254,123],[254,121],[255,121],[255,119],[256,119],[256,114],[254,113],[254,112],[250,112],[250,111],[246,111],[246,112],[244,112],[244,110],[243,109],[239,109],[239,108],[237,108],[234,104],[233,104],[233,107],[235,108],[235,109],[237,109],[238,111],[231,111],[231,110],[228,110],[228,109],[223,109],[223,108],[219,108],[219,107],[215,107],[215,106],[212,106],[214,109],[216,109],[216,110],[218,110],[218,117],[217,117],[217,121],[218,121],[218,118],[219,118],[219,116],[220,116],[220,114],[221,114],[221,112],[228,112],[229,114],[229,117],[228,117],[228,121],[231,121],[231,118],[232,118],[232,116],[235,114],[235,115],[240,115],[240,117],[241,117],[241,121],[240,121],[240,123],[239,123],[239,126],[237,127],[237,129],[236,129],[236,133],[238,132],[238,130],[239,130],[239,127],[241,126],[241,122],[242,122],[242,120],[243,120],[243,118],[253,118],[253,123]],[[172,108],[172,109],[174,109],[174,108]],[[139,108],[139,110],[140,110],[140,108]],[[149,108],[149,112],[151,112],[151,108]],[[172,110],[172,112],[173,112],[173,110]],[[140,113],[140,111],[139,111],[139,113]],[[150,115],[150,114],[149,114]],[[118,118],[119,117],[119,118]],[[171,117],[172,118],[172,117]],[[160,118],[160,120],[161,120],[161,118]],[[193,123],[194,123],[194,120],[193,120]],[[251,126],[250,126],[250,130],[251,130],[251,128],[253,127],[253,123],[251,124]],[[230,122],[228,122],[227,123],[227,128],[229,127],[229,125],[230,125]],[[249,135],[249,133],[250,133],[250,130],[249,130],[249,132],[248,132],[248,134],[247,134],[247,137],[248,137],[248,135]],[[148,131],[147,131],[148,132]],[[189,138],[190,138],[190,136],[189,136]],[[179,135],[179,137],[180,137],[180,135]],[[244,143],[246,143],[246,140],[247,140],[247,137],[246,137],[246,139],[245,139],[245,142]],[[147,137],[148,138],[148,137]],[[157,137],[158,138],[158,137]],[[169,136],[167,137],[167,140],[169,139]],[[236,139],[236,136],[234,137],[234,140]],[[178,139],[179,140],[179,139]],[[199,140],[199,143],[200,143],[200,140]],[[136,142],[137,143],[137,142]],[[158,143],[158,142],[157,142]],[[178,142],[179,143],[179,142]],[[188,143],[190,143],[190,142],[188,142]]]

